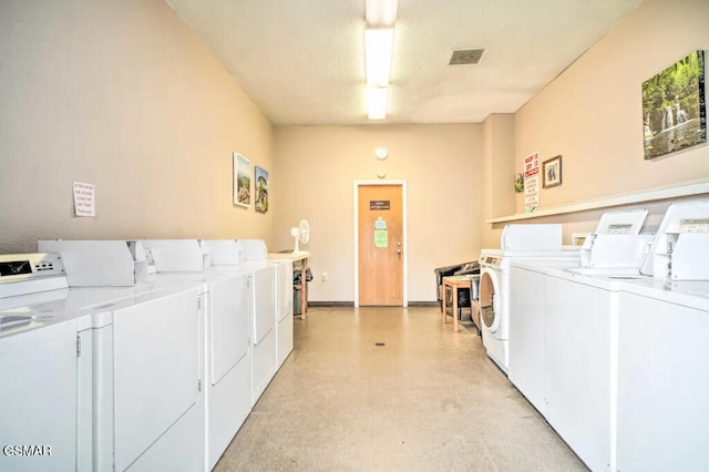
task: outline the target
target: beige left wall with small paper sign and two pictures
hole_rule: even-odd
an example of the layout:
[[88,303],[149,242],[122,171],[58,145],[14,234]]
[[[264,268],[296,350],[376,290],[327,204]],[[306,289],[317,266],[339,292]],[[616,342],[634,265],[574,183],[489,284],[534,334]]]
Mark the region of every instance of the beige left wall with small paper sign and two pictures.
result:
[[2,1],[0,71],[0,253],[270,236],[273,214],[232,205],[232,153],[270,170],[271,126],[163,0]]

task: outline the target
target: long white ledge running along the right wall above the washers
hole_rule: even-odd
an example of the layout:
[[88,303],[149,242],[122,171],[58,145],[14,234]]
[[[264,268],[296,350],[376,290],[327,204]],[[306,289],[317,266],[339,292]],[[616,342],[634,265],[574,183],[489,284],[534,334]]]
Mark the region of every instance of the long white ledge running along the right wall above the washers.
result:
[[565,215],[569,213],[587,212],[590,209],[608,208],[619,205],[633,205],[637,203],[657,202],[668,198],[679,198],[692,195],[709,194],[709,178],[685,182],[679,185],[649,188],[643,192],[613,195],[605,198],[594,198],[577,202],[571,205],[549,206],[537,208],[532,213],[515,213],[514,215],[499,216],[485,219],[485,223],[507,223],[520,219],[541,218],[544,216]]

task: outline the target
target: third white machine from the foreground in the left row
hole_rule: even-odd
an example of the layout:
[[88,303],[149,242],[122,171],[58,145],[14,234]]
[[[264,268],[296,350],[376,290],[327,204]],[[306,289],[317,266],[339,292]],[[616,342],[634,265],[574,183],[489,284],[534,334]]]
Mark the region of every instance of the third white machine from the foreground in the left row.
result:
[[240,268],[234,240],[147,239],[143,244],[155,261],[158,286],[197,284],[205,294],[205,447],[212,470],[251,409],[251,275]]

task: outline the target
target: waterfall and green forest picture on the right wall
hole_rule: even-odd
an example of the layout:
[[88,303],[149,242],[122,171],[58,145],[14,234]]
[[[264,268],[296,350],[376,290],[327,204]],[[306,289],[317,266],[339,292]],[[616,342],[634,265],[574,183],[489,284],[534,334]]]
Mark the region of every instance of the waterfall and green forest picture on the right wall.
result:
[[645,158],[707,142],[705,51],[695,51],[643,82]]

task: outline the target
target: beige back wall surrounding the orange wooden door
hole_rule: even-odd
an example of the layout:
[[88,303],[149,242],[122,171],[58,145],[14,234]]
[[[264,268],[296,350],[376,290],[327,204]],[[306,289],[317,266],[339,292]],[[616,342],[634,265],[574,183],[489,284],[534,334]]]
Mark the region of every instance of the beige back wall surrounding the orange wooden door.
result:
[[[353,182],[403,179],[409,205],[409,300],[435,300],[435,267],[476,259],[481,247],[482,126],[276,126],[273,249],[310,223],[310,300],[353,301]],[[374,157],[374,147],[389,158]],[[328,281],[321,280],[327,271]]]

